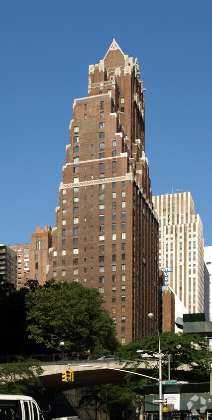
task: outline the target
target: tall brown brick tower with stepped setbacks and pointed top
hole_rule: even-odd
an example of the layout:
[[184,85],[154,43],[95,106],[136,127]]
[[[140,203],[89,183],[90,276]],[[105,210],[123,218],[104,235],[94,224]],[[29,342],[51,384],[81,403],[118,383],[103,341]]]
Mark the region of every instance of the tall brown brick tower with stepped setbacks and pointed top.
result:
[[76,99],[52,229],[48,278],[97,288],[122,344],[155,330],[158,220],[145,157],[143,82],[137,59],[113,39],[89,66]]

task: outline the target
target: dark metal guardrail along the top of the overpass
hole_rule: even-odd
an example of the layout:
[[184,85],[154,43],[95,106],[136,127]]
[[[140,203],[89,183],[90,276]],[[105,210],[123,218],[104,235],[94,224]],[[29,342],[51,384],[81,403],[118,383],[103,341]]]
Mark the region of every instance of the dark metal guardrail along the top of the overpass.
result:
[[[89,360],[98,359],[100,357],[108,356],[110,353],[92,353]],[[116,357],[116,352],[111,352],[111,357]],[[24,354],[20,356],[0,356],[0,364],[6,364],[6,363],[13,363],[17,362],[18,359],[21,358],[21,360],[26,359],[34,359],[37,362],[40,363],[47,363],[47,362],[66,362],[68,360],[88,360],[88,354],[86,352],[84,353],[78,353],[78,352],[71,352],[71,353],[50,353],[50,354]]]

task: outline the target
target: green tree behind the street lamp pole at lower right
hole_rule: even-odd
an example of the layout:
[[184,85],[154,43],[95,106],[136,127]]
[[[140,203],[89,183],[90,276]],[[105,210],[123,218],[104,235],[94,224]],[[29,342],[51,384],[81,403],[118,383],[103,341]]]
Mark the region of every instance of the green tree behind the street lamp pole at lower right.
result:
[[[163,332],[160,334],[160,344],[162,353],[171,355],[171,379],[183,379],[185,373],[182,368],[185,364],[189,367],[187,375],[190,382],[193,380],[195,382],[209,380],[209,360],[212,357],[212,352],[208,350],[205,339],[199,334]],[[158,352],[157,333],[143,340],[136,338],[130,344],[122,346],[118,357],[122,360],[140,360],[136,350]],[[150,366],[148,361],[145,363]],[[135,362],[135,366],[138,366],[138,364],[139,362]],[[163,379],[168,379],[168,364],[165,359],[163,360],[162,374]],[[158,377],[158,365],[153,368],[152,376]]]

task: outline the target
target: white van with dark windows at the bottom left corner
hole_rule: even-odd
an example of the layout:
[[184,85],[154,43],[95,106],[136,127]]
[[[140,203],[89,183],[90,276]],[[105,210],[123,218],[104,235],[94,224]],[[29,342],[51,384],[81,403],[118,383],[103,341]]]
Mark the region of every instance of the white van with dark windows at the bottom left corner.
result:
[[0,420],[44,420],[36,401],[26,395],[0,394]]

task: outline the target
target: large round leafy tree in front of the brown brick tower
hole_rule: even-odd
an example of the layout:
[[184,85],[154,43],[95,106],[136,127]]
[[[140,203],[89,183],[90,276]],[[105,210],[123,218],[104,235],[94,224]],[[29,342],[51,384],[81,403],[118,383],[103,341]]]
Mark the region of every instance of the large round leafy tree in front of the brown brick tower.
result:
[[114,324],[103,303],[96,289],[76,282],[54,282],[50,287],[29,291],[29,337],[53,350],[60,350],[60,341],[69,351],[115,350],[118,341]]

